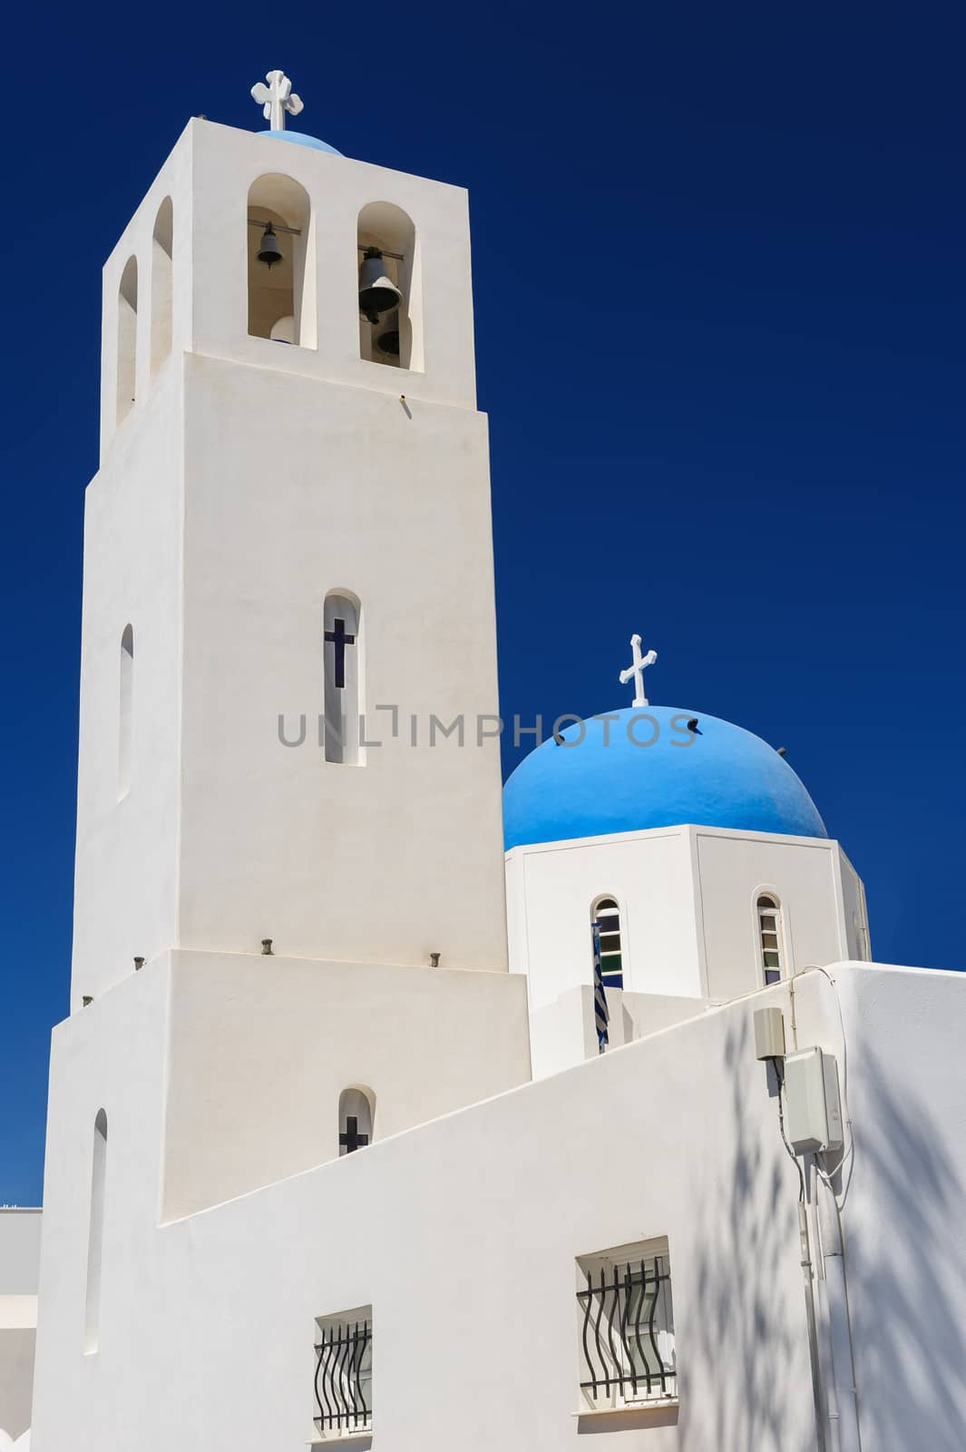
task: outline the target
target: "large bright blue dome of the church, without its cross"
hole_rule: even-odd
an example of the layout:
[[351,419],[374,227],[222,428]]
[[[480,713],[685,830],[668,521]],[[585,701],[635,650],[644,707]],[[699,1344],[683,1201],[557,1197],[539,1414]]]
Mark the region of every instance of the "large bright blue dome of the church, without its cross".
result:
[[570,745],[551,738],[519,764],[503,788],[508,851],[685,822],[828,836],[802,783],[760,736],[670,706],[611,714],[585,722],[583,741],[580,725],[567,726],[560,735]]

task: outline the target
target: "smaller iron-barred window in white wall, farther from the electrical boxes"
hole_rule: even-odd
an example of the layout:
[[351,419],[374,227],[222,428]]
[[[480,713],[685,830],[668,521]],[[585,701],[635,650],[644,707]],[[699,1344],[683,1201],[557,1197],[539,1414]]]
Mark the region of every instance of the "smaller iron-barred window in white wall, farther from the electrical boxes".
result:
[[373,1426],[373,1308],[316,1318],[315,1429],[318,1440]]

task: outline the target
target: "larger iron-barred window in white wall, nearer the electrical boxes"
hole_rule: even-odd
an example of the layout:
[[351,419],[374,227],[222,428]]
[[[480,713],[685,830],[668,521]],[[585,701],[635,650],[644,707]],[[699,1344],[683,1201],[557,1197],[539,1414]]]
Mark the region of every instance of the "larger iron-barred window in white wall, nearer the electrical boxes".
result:
[[580,1406],[585,1411],[677,1398],[666,1240],[577,1260]]

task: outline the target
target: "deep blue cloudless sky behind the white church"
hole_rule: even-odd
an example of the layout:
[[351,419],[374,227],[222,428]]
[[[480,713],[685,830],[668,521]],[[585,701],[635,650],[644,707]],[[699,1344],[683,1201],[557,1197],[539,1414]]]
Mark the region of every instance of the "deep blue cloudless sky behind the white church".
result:
[[299,129],[470,189],[505,710],[624,704],[641,630],[656,701],[789,748],[875,955],[966,964],[963,29],[953,0],[13,12],[0,1202],[39,1199],[67,1009],[100,266],[186,119],[261,126],[274,65]]

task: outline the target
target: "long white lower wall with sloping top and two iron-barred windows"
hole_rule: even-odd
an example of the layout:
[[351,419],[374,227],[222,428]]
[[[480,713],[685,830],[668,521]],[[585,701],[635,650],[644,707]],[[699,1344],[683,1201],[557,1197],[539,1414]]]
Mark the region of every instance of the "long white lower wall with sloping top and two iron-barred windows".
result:
[[[833,973],[856,1134],[846,1225],[866,1445],[951,1452],[966,1417],[956,1374],[966,1358],[966,1085],[954,1051],[966,982],[867,966]],[[795,990],[799,1045],[841,1056],[827,979],[806,974]],[[102,1006],[112,999],[120,995]],[[123,1031],[110,1056],[93,1013],[75,1016],[54,1064],[35,1452],[59,1446],[64,1400],[80,1452],[135,1439],[148,1452],[302,1445],[313,1318],[370,1301],[380,1440],[402,1452],[454,1440],[467,1452],[595,1437],[611,1446],[573,1416],[573,1260],[661,1234],[680,1411],[676,1424],[628,1430],[622,1443],[812,1448],[798,1178],[753,1054],[763,1000],[790,1019],[788,986],[711,1009],[161,1230],[157,1054],[145,1053],[129,1002],[104,1029]],[[133,1018],[154,1022],[160,1006],[145,996]],[[102,1349],[84,1359],[88,1128],[104,1099],[117,1108]]]

